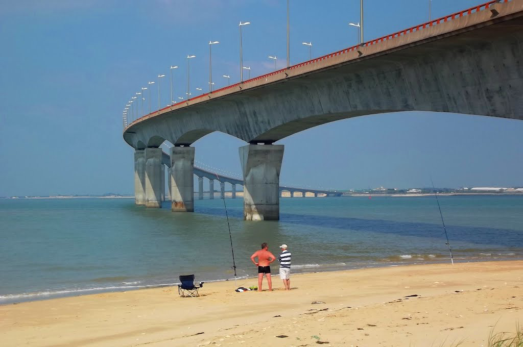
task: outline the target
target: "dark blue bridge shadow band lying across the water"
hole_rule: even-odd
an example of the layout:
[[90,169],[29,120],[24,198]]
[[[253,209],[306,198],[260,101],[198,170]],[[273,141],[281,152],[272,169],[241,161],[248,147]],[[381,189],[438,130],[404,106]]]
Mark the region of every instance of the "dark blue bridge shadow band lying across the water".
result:
[[[223,209],[207,207],[198,209],[198,213],[225,216]],[[229,217],[243,218],[243,211],[228,210]],[[254,222],[257,223],[257,222]],[[383,219],[363,219],[349,217],[332,217],[320,215],[301,215],[280,213],[279,223],[309,225],[325,228],[351,230],[352,232],[394,234],[398,236],[415,236],[445,238],[441,224],[387,221]],[[499,245],[510,248],[523,247],[523,232],[514,229],[446,225],[450,241],[472,242],[480,245]]]

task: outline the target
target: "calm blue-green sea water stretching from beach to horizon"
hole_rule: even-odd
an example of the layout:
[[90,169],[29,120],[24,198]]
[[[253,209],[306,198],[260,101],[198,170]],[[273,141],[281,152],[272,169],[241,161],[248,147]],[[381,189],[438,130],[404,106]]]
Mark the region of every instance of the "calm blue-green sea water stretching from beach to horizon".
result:
[[[227,199],[238,276],[261,242],[292,252],[294,273],[448,262],[434,197],[282,198],[278,222],[243,221]],[[523,196],[441,196],[454,259],[523,258]],[[134,199],[0,200],[0,304],[233,278],[223,201],[196,213]],[[278,266],[275,265],[275,269]],[[274,272],[274,271],[273,271]]]

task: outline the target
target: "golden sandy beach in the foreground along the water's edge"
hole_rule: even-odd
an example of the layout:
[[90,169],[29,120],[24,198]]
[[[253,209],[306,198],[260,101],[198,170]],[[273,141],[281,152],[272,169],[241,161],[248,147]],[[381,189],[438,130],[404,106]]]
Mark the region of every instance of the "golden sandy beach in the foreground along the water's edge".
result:
[[[238,281],[238,286],[257,283]],[[2,346],[486,346],[516,330],[523,261],[300,274],[283,291],[206,283],[0,306]],[[267,288],[267,287],[265,287]],[[313,302],[324,302],[312,304]]]

